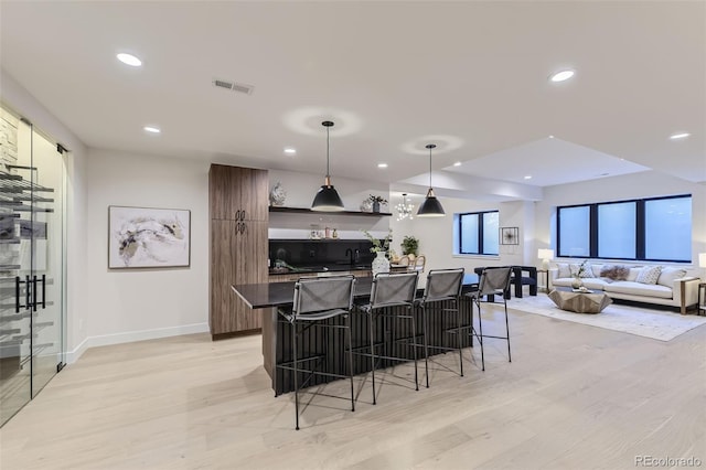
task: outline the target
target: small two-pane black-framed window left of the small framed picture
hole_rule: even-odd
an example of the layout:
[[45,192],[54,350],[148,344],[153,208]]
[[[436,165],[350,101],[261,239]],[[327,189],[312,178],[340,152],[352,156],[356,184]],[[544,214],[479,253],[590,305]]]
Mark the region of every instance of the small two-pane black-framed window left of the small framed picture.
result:
[[459,253],[498,255],[500,253],[500,213],[498,211],[459,214]]

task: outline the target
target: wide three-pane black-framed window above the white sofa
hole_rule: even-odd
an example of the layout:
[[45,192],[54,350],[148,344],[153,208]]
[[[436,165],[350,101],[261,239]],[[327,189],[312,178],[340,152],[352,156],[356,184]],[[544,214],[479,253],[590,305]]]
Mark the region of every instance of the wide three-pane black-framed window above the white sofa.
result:
[[564,206],[557,220],[558,256],[692,259],[691,195]]

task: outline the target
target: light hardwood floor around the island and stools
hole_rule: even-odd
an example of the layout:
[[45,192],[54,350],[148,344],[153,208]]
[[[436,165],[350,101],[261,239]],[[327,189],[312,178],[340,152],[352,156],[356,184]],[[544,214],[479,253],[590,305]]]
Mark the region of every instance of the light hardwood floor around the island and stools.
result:
[[[675,313],[676,314],[676,313]],[[489,311],[486,327],[502,317]],[[706,327],[660,342],[511,312],[513,362],[486,342],[415,392],[400,365],[317,387],[300,431],[275,398],[260,337],[207,334],[96,348],[0,429],[2,470],[633,469],[638,456],[706,467]],[[492,341],[492,344],[491,344]]]

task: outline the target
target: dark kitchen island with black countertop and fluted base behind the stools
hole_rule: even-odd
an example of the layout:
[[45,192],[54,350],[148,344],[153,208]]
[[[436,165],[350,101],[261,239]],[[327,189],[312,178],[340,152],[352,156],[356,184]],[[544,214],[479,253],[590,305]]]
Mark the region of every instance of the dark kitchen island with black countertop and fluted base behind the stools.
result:
[[[239,296],[252,309],[263,309],[263,357],[264,366],[272,381],[272,389],[275,395],[293,391],[293,381],[291,372],[276,367],[277,364],[286,364],[292,361],[292,341],[291,325],[286,321],[280,321],[277,313],[278,308],[287,308],[292,306],[293,281],[289,282],[269,282],[269,284],[249,284],[232,286],[234,295]],[[357,278],[354,286],[355,303],[364,303],[368,300],[372,287],[372,278]],[[478,289],[478,276],[467,274],[463,277],[463,292]],[[420,298],[424,289],[419,289],[417,297]],[[470,325],[473,319],[472,301],[467,296],[461,296],[459,309],[461,311],[461,345],[462,348],[472,346],[472,337]],[[456,348],[457,334],[451,332],[456,329],[456,316],[446,314],[443,309],[450,308],[450,302],[438,302],[429,311],[427,334],[429,334],[429,354],[446,352],[437,346]],[[394,313],[389,308],[388,312]],[[420,333],[422,328],[422,316],[419,308],[415,307],[415,321],[417,339],[416,343],[417,357],[424,359],[424,338]],[[338,321],[332,319],[330,321]],[[398,322],[391,324],[394,319],[382,316],[377,319],[375,331],[376,348],[387,351],[387,355],[406,357],[414,360],[414,350],[411,348],[411,329],[407,322]],[[394,327],[394,328],[393,328]],[[355,308],[351,311],[351,341],[353,346],[353,375],[370,372],[370,327],[367,324],[367,316],[361,313]],[[346,344],[344,332],[330,332],[327,329],[309,329],[300,335],[298,357],[308,361],[319,362],[319,366],[329,372],[347,374],[347,361],[343,344]],[[359,354],[355,354],[359,353]],[[377,368],[385,368],[396,362],[379,360]],[[307,383],[308,386],[331,382],[334,378],[327,376],[313,376]]]

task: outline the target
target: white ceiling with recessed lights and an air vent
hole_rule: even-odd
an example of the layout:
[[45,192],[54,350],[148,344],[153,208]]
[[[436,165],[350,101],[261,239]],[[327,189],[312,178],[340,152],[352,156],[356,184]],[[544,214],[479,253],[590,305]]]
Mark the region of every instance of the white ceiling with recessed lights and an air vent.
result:
[[4,72],[88,147],[323,174],[331,119],[334,183],[421,181],[429,142],[461,186],[706,181],[705,2],[3,0],[0,26]]

